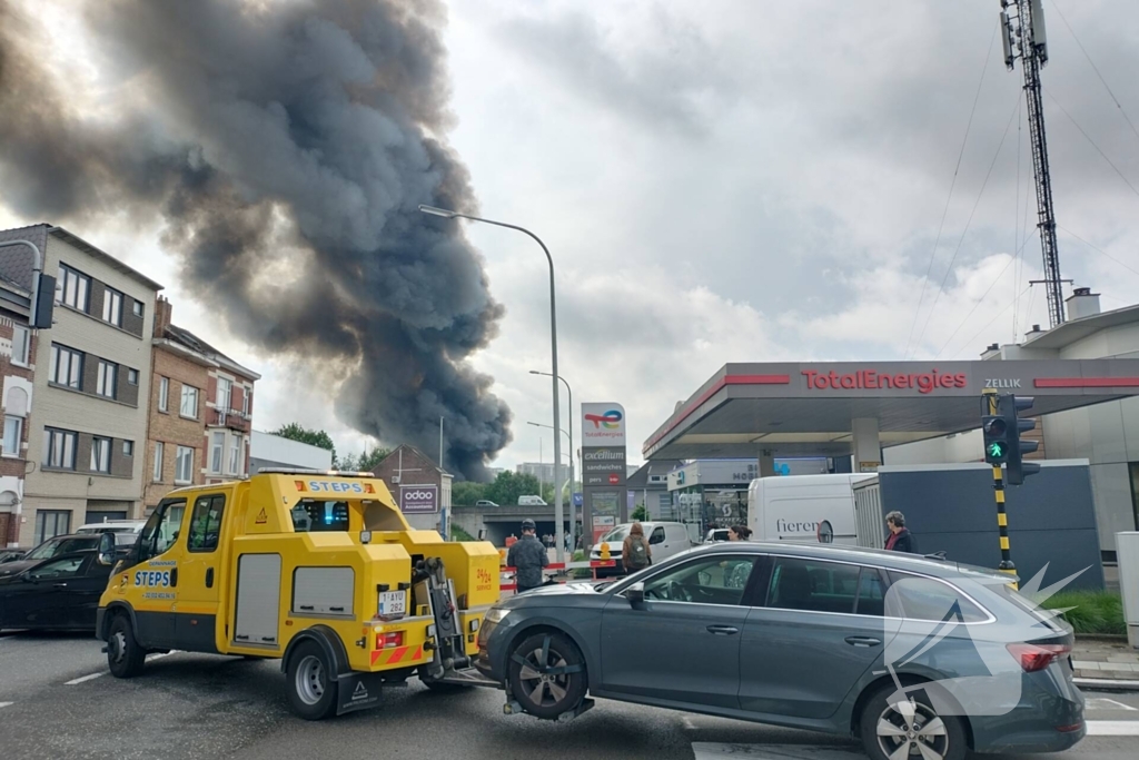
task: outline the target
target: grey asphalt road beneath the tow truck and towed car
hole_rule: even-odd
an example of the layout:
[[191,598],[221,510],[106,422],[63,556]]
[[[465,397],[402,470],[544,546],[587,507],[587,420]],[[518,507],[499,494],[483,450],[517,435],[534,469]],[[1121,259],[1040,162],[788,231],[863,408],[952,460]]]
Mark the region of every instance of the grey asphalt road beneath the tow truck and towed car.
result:
[[[146,673],[113,678],[88,636],[0,635],[0,755],[36,758],[461,758],[705,760],[858,757],[806,732],[598,702],[564,725],[502,714],[487,689],[391,689],[379,709],[312,724],[294,718],[276,661],[151,655]],[[1088,694],[1089,720],[1130,736],[1090,736],[1060,760],[1139,757],[1139,693]],[[820,752],[828,747],[831,752]],[[1011,755],[1003,755],[1011,760]],[[1040,755],[1038,755],[1040,757]]]

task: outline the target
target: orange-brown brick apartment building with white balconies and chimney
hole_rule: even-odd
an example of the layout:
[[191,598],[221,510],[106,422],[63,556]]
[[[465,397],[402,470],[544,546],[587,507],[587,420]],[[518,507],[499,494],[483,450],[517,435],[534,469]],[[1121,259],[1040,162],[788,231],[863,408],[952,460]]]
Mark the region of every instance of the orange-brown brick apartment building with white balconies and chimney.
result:
[[172,304],[159,297],[144,493],[148,512],[174,488],[248,475],[253,385],[261,379],[173,325],[172,316]]

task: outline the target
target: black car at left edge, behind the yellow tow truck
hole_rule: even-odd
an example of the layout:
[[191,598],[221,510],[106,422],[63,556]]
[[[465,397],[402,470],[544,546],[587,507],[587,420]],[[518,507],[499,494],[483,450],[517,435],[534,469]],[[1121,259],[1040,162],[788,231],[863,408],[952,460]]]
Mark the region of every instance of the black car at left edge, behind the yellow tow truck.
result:
[[0,630],[93,632],[99,597],[110,575],[110,566],[99,564],[97,555],[97,548],[71,551],[0,577]]

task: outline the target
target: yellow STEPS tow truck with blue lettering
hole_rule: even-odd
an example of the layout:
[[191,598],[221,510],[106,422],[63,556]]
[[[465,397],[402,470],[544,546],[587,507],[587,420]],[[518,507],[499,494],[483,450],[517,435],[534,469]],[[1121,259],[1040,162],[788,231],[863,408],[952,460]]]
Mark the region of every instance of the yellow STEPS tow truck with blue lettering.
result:
[[370,473],[273,469],[163,499],[113,569],[96,630],[118,678],[149,652],[280,659],[293,710],[320,720],[411,676],[490,685],[470,657],[498,598],[493,545],[411,529]]

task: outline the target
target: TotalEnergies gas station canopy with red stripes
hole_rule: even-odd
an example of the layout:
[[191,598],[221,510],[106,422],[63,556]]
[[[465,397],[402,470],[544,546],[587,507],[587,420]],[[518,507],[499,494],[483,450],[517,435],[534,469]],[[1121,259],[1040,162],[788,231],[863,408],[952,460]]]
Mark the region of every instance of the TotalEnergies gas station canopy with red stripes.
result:
[[977,428],[988,387],[1033,397],[1026,414],[1048,415],[1139,395],[1139,359],[726,365],[678,404],[642,452],[849,456],[867,424],[882,447]]

